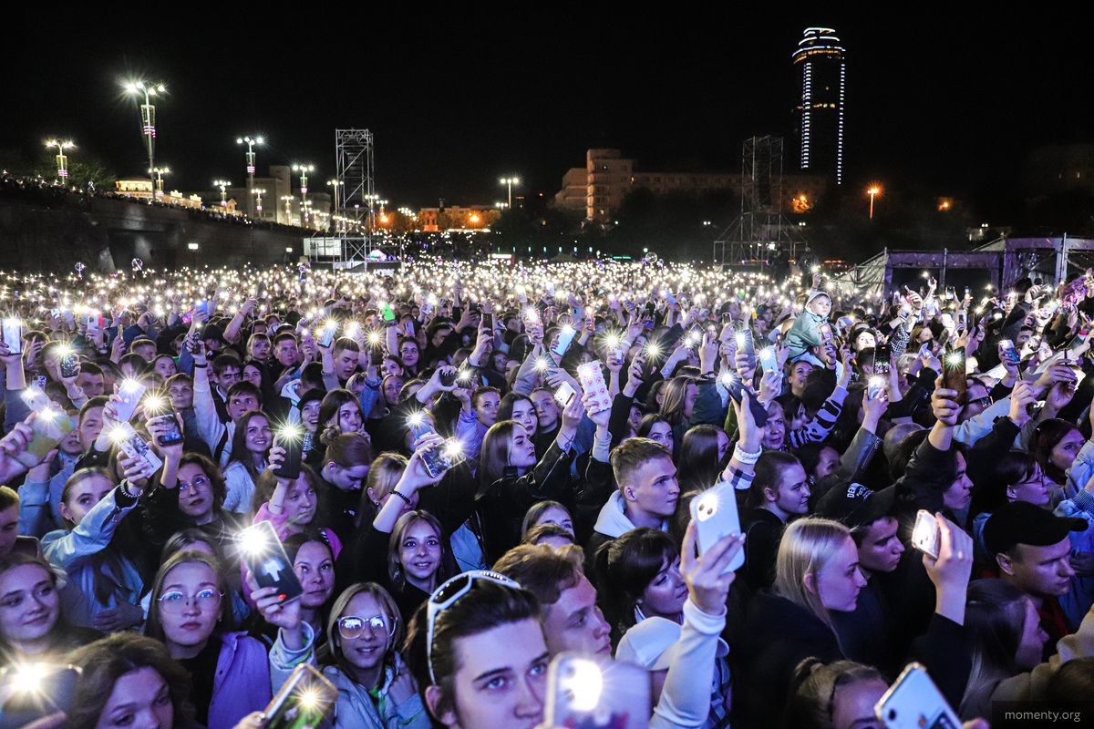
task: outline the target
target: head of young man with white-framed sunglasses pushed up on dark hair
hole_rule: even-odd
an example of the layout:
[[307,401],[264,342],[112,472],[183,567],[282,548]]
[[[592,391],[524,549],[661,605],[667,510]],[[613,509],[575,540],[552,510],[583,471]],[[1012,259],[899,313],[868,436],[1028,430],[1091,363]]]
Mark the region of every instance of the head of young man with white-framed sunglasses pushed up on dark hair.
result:
[[496,572],[473,569],[418,608],[404,647],[430,715],[452,729],[533,729],[550,654],[539,603]]

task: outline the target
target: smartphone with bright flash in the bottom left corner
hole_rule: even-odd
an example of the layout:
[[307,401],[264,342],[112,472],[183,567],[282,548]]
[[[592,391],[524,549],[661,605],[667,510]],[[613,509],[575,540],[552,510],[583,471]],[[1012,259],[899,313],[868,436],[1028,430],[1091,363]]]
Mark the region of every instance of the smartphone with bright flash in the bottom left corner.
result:
[[81,673],[77,666],[28,663],[5,668],[0,674],[0,692],[7,695],[0,707],[0,729],[15,729],[49,714],[68,712]]

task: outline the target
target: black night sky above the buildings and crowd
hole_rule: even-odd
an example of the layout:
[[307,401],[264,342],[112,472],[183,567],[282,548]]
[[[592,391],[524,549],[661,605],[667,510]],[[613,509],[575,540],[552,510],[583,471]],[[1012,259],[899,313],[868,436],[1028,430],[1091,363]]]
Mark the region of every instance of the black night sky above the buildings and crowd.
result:
[[[810,25],[836,28],[848,49],[850,185],[975,193],[1013,179],[1033,145],[1094,141],[1089,31],[1076,17],[750,5],[766,15],[740,4],[40,15],[9,23],[0,148],[71,137],[119,175],[141,175],[138,111],[121,82],[142,77],[167,85],[156,163],[184,191],[241,184],[235,139],[247,133],[268,139],[259,174],[310,162],[312,187],[325,188],[337,127],[373,131],[377,191],[393,207],[490,204],[510,175],[526,181],[522,193],[554,195],[593,146],[643,169],[738,171],[746,137],[783,134],[796,149],[790,56]],[[259,11],[265,20],[248,20]]]

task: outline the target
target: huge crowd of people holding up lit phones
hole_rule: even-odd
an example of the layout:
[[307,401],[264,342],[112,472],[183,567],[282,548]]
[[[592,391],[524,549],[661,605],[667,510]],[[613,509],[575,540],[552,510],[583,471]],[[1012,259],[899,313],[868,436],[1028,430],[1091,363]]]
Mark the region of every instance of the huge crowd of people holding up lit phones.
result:
[[310,663],[335,727],[531,729],[558,656],[657,728],[882,727],[910,661],[963,720],[1085,697],[1090,274],[923,283],[0,272],[0,698],[71,665],[49,726],[255,729]]

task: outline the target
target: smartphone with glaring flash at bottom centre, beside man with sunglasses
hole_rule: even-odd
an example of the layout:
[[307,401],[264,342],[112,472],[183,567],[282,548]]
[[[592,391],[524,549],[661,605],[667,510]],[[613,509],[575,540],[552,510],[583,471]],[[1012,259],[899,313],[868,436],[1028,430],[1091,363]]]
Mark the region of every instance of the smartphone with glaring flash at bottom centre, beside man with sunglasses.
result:
[[544,725],[647,729],[650,675],[633,663],[561,652],[547,669]]

